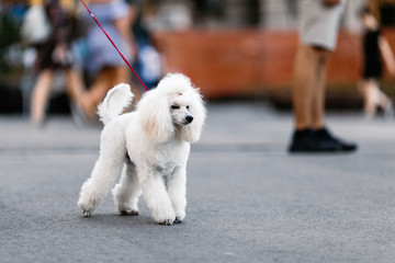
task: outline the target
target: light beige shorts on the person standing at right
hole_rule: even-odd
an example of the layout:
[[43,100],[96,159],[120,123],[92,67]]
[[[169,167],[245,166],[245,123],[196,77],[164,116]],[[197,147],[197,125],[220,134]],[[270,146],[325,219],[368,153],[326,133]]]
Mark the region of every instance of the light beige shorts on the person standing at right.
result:
[[327,7],[323,0],[303,0],[300,27],[302,44],[334,50],[345,3],[346,0],[342,0],[335,7]]

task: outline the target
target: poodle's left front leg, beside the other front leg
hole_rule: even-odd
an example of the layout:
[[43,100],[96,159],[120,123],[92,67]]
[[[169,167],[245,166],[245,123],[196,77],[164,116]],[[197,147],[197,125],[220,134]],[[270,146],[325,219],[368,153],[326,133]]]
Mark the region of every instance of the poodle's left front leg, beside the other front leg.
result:
[[176,214],[166,191],[163,176],[156,171],[140,171],[143,196],[151,211],[154,219],[158,224],[172,225]]

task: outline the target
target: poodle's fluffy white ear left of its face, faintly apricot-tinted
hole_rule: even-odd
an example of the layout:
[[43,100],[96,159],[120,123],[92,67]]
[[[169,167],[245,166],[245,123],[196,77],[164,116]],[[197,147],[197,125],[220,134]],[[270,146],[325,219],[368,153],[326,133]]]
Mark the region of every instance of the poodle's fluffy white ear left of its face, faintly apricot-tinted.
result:
[[138,104],[144,132],[157,142],[167,141],[174,133],[168,98],[157,90],[146,92]]

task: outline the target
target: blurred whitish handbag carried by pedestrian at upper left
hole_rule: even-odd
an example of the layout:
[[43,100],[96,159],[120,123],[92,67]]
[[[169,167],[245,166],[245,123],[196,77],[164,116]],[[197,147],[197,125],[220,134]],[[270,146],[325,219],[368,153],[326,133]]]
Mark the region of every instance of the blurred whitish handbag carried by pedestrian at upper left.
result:
[[41,4],[31,7],[22,22],[21,36],[23,42],[30,45],[42,44],[48,39],[52,25]]

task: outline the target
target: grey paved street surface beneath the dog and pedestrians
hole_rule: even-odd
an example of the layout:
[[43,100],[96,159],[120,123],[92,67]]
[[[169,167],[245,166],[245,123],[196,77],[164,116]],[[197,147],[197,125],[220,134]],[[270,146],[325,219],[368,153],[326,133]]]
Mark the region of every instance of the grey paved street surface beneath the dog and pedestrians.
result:
[[331,113],[327,123],[359,151],[289,155],[291,113],[210,105],[189,160],[187,218],[167,227],[143,199],[138,217],[119,216],[111,195],[81,216],[100,128],[1,116],[0,261],[394,262],[395,121]]

